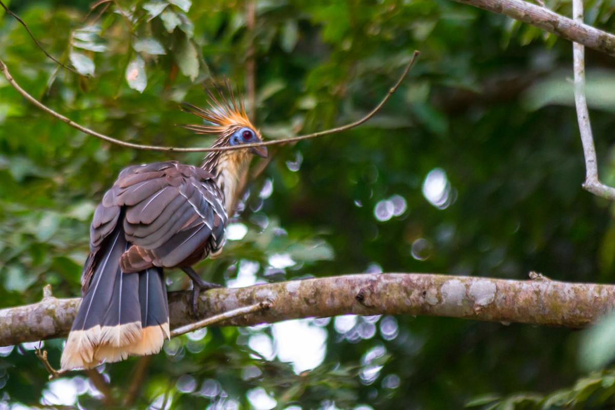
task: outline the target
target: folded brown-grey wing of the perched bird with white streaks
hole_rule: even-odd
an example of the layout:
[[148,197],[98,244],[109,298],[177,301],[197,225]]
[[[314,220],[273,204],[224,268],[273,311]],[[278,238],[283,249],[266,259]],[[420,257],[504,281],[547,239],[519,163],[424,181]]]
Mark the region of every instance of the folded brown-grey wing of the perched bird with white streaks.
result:
[[94,213],[84,286],[89,265],[118,222],[131,245],[122,254],[122,271],[139,272],[192,264],[219,250],[227,217],[213,175],[202,168],[174,161],[127,167]]

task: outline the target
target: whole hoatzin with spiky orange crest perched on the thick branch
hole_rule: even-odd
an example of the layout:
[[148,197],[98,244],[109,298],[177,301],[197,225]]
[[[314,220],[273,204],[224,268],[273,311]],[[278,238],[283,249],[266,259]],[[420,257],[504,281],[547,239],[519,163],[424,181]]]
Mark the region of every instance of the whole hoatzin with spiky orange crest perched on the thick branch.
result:
[[[185,111],[210,123],[185,127],[216,135],[213,147],[262,141],[243,101],[227,87],[226,96],[208,91],[207,109],[185,104]],[[202,280],[191,265],[221,250],[250,154],[266,157],[268,152],[264,146],[214,151],[200,168],[168,161],[121,171],[94,212],[83,299],[62,369],[159,352],[170,336],[163,268],[178,267],[192,279],[193,310],[199,290],[218,286]]]

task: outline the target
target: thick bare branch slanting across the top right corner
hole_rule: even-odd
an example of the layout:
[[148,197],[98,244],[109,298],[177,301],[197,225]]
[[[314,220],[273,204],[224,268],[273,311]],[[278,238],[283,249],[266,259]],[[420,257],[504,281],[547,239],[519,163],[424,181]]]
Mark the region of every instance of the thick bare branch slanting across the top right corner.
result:
[[523,23],[528,23],[569,41],[615,56],[615,36],[595,27],[574,22],[546,7],[523,0],[454,0],[479,9],[504,14]]

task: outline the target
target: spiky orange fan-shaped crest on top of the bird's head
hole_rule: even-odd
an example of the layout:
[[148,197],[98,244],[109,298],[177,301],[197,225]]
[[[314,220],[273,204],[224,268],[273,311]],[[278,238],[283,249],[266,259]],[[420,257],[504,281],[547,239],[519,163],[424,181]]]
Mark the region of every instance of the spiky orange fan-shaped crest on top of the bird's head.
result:
[[244,101],[241,96],[236,97],[228,79],[224,83],[226,85],[226,94],[219,87],[215,87],[215,93],[211,89],[205,88],[207,97],[209,97],[209,108],[203,109],[189,103],[182,103],[181,106],[181,109],[184,111],[190,112],[212,123],[212,125],[189,124],[183,127],[197,134],[218,136],[228,136],[242,127],[250,127],[256,130],[245,113]]

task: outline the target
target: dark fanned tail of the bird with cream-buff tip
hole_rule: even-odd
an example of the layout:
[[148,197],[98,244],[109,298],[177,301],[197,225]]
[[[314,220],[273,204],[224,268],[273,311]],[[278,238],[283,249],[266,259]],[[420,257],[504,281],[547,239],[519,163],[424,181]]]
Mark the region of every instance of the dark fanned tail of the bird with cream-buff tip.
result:
[[106,240],[68,334],[62,369],[93,368],[102,361],[156,353],[170,336],[162,268],[125,274],[119,259],[129,243],[121,224]]

